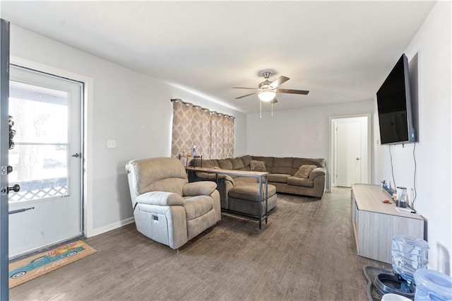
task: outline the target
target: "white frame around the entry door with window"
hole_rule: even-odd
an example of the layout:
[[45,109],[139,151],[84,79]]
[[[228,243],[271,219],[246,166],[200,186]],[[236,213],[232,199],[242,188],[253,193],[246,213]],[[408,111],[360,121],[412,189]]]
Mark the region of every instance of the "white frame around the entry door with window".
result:
[[29,69],[35,69],[40,72],[53,74],[62,78],[69,78],[74,81],[83,83],[82,91],[82,112],[81,112],[81,124],[82,124],[82,140],[83,145],[83,162],[82,162],[82,178],[81,178],[81,198],[82,198],[82,212],[83,212],[83,235],[90,237],[93,233],[93,116],[88,112],[93,112],[93,78],[83,76],[78,73],[66,71],[63,69],[54,68],[44,64],[39,64],[27,59],[21,59],[19,57],[11,57],[11,64],[23,66]]

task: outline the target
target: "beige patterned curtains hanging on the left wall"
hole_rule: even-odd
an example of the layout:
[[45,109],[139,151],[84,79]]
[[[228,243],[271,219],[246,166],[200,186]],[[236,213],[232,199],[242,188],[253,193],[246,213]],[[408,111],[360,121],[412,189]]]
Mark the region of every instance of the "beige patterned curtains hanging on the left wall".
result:
[[204,159],[232,158],[234,155],[234,117],[172,100],[173,122],[171,156],[197,147]]

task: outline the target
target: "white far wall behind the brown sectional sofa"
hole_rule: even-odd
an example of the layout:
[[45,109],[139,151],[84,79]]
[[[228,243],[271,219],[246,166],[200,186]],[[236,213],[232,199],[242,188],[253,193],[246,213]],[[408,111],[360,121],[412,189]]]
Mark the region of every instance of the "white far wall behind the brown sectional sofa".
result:
[[248,115],[250,155],[328,160],[328,117],[374,113],[372,100]]

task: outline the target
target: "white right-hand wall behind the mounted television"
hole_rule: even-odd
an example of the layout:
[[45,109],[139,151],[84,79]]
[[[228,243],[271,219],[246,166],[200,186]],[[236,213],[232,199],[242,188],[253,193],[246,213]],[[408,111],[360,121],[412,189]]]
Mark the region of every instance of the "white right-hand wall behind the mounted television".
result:
[[[428,220],[429,268],[451,274],[451,2],[439,1],[405,50],[417,59],[419,143],[391,146],[398,186],[414,187],[413,148],[417,161],[415,208]],[[412,64],[410,63],[410,67]],[[416,97],[416,95],[415,95]],[[375,135],[379,137],[378,127]],[[376,177],[393,181],[388,146],[375,146]]]

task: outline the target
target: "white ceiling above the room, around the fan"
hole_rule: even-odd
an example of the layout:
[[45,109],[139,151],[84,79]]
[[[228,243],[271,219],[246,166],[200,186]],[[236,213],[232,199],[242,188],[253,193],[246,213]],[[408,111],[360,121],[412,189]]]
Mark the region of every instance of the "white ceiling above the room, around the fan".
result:
[[[434,1],[1,1],[1,18],[241,112],[371,100]],[[252,92],[252,91],[251,91]],[[263,110],[270,110],[264,104]]]

